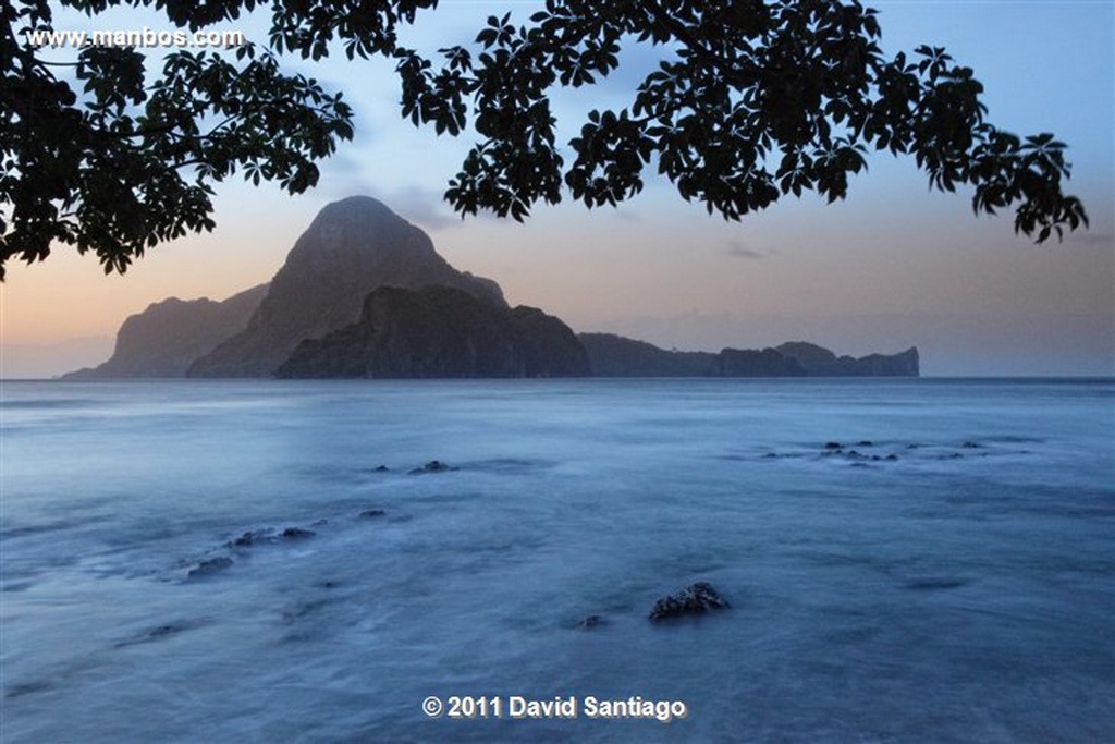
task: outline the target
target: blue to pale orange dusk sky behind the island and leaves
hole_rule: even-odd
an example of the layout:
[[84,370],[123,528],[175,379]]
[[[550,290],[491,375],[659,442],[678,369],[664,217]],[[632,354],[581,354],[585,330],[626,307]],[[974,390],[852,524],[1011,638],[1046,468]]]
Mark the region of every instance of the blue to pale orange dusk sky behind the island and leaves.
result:
[[[216,229],[164,243],[125,276],[59,247],[46,262],[8,264],[0,286],[0,377],[51,377],[112,354],[129,315],[167,297],[224,299],[268,281],[329,202],[384,201],[426,230],[456,268],[500,282],[513,305],[556,315],[576,331],[610,331],[665,348],[762,348],[808,340],[837,354],[917,346],[927,376],[1115,374],[1115,3],[1111,0],[876,1],[888,52],[943,46],[983,83],[988,119],[1069,145],[1068,191],[1092,228],[1035,245],[1012,213],[972,214],[970,193],[930,191],[909,160],[869,158],[849,197],[814,195],[725,222],[648,173],[617,209],[537,206],[525,224],[462,221],[440,195],[473,139],[437,137],[399,113],[386,60],[290,67],[343,90],[357,133],[322,164],[319,185],[219,184]],[[443,0],[405,39],[426,51],[471,40],[489,15],[523,21],[532,2]],[[120,11],[67,17],[57,28],[169,28]],[[264,40],[266,19],[227,28]],[[591,90],[555,97],[559,137],[584,112],[633,97],[653,49]],[[239,176],[237,176],[239,177]]]

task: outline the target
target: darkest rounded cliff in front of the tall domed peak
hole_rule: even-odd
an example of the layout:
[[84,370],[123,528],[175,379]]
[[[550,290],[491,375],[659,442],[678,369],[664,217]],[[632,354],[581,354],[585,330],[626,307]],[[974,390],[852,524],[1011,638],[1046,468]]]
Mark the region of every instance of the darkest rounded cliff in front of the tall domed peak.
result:
[[513,310],[452,287],[382,287],[360,320],[304,340],[278,377],[581,377],[588,355],[541,310]]

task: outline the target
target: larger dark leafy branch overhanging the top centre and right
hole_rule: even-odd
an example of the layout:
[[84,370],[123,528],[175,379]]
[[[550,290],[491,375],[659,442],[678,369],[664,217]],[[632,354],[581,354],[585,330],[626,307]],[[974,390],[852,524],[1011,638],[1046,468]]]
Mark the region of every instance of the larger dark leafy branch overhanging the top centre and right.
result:
[[[442,49],[439,64],[396,55],[405,116],[438,134],[472,116],[483,137],[446,192],[462,214],[522,220],[564,190],[615,205],[650,167],[738,220],[791,193],[844,199],[866,154],[889,151],[912,155],[933,189],[973,186],[977,213],[1015,206],[1016,231],[1037,242],[1087,223],[1061,191],[1064,143],[999,131],[971,69],[929,46],[890,58],[880,35],[857,0],[547,0],[529,23],[488,18],[472,48]],[[551,91],[605,78],[632,44],[660,47],[658,69],[628,106],[591,112],[556,147]]]

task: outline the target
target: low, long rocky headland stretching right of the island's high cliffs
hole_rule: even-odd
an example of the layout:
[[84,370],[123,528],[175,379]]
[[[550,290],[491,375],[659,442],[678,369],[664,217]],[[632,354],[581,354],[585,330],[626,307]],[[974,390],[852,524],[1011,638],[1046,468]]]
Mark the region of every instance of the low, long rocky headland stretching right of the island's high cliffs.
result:
[[612,334],[580,334],[597,377],[918,377],[918,349],[837,357],[802,341],[777,348],[667,351]]

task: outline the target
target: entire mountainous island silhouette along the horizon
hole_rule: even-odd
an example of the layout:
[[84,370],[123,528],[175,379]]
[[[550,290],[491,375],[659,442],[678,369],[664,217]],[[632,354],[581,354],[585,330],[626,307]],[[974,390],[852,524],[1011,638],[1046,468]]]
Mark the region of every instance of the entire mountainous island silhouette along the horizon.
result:
[[860,359],[796,341],[667,351],[510,309],[369,196],[327,205],[270,284],[224,302],[169,299],[120,327],[89,377],[828,377],[919,374],[918,349]]

